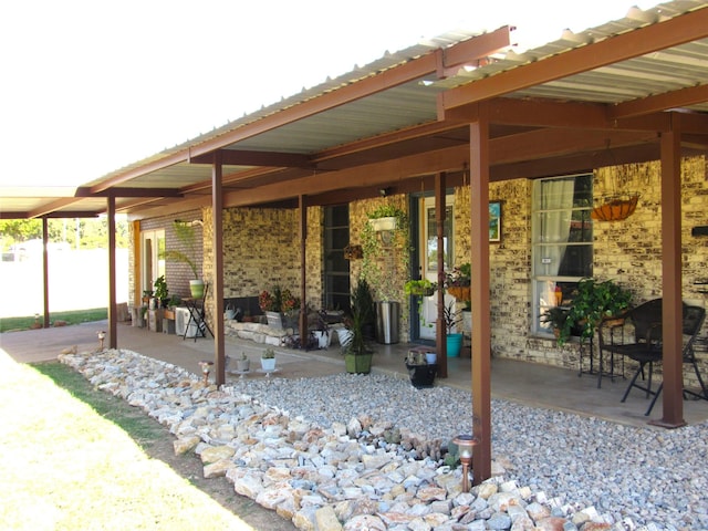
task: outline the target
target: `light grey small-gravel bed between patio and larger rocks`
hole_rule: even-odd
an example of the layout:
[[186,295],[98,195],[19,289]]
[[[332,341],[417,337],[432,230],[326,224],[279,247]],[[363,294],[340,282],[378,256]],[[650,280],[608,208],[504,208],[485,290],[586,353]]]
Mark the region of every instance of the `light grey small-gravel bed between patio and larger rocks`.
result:
[[[360,415],[429,439],[471,431],[471,394],[416,389],[386,375],[238,381],[232,387],[323,427]],[[648,529],[708,529],[708,424],[676,430],[492,400],[492,458],[508,479],[615,521]]]

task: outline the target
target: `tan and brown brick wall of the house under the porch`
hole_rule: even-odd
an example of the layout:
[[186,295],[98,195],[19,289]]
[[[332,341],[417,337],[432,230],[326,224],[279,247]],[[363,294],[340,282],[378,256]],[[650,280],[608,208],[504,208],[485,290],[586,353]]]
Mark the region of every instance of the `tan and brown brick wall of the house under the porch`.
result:
[[[594,175],[595,197],[615,191],[641,192],[637,209],[624,221],[594,222],[594,277],[613,279],[629,288],[635,303],[662,293],[662,221],[659,163],[631,165],[623,171],[601,168]],[[693,237],[695,226],[708,225],[708,166],[705,157],[688,158],[681,165],[683,189],[683,281],[684,298],[704,303],[708,238]],[[531,191],[532,181],[516,179],[490,185],[490,200],[502,202],[501,242],[490,243],[491,268],[491,344],[494,356],[577,368],[577,345],[559,347],[553,340],[535,337],[531,323]],[[620,189],[617,187],[620,186]],[[367,212],[383,204],[395,204],[408,211],[408,197],[393,196],[354,201],[350,205],[350,242],[361,244]],[[455,263],[470,261],[470,188],[455,189],[455,226],[457,227]],[[204,275],[212,281],[211,211],[190,211],[180,219],[200,217],[204,228]],[[142,230],[165,228],[168,248],[175,244],[170,225],[174,217],[142,221]],[[323,210],[308,209],[306,293],[312,308],[322,306]],[[225,296],[253,296],[274,285],[300,293],[300,235],[298,210],[231,208],[223,212]],[[415,242],[414,242],[415,243]],[[400,293],[400,339],[409,339],[409,309],[404,284],[410,272],[403,266],[402,250],[395,250],[376,262],[386,282]],[[133,254],[131,254],[133,257]],[[392,266],[393,261],[393,266]],[[183,264],[168,264],[170,291],[185,291],[188,270]],[[133,270],[133,269],[132,269]],[[472,270],[473,271],[473,270]],[[362,261],[351,261],[352,285],[362,274]],[[186,288],[188,290],[188,288]],[[706,330],[701,332],[706,335]],[[705,343],[698,347],[704,372],[708,369]],[[690,377],[688,381],[690,382]]]

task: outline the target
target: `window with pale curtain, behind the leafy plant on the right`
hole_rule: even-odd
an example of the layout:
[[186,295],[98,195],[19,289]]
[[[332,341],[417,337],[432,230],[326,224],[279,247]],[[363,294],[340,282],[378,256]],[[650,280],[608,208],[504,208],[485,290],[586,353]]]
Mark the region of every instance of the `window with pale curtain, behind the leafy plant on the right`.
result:
[[552,333],[540,321],[551,306],[566,304],[577,282],[593,274],[593,176],[539,179],[533,184],[533,331]]

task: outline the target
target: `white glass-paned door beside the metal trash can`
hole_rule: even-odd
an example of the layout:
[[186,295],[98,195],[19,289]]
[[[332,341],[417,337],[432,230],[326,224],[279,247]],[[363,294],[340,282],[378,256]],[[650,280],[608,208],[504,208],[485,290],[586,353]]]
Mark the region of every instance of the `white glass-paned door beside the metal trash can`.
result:
[[[421,275],[428,279],[430,282],[438,281],[438,232],[435,215],[435,198],[426,197],[423,199],[423,216],[421,216],[421,230],[420,241],[418,249],[420,249],[420,272]],[[444,260],[445,270],[449,270],[452,264],[452,250],[454,250],[454,211],[452,211],[454,197],[446,197],[446,212],[445,212],[445,226],[442,231],[442,246],[444,246]],[[448,295],[446,295],[446,299]],[[436,324],[435,321],[438,316],[438,294],[437,292],[433,296],[424,296],[420,304],[420,311],[418,312],[419,330],[421,340],[435,341]]]

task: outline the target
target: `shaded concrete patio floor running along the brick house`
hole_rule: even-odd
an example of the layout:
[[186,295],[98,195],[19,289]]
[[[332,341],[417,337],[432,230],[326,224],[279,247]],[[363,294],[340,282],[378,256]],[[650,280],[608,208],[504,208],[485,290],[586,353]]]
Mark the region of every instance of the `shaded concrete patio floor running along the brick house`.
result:
[[[62,350],[73,345],[76,345],[80,352],[97,350],[97,332],[106,327],[107,323],[103,321],[56,329],[9,332],[0,334],[0,348],[19,363],[55,360]],[[125,324],[118,325],[117,335],[118,347],[174,363],[195,374],[200,374],[200,361],[211,361],[215,355],[211,337],[199,337],[196,341],[183,340],[181,336],[149,332],[147,329]],[[400,343],[375,346],[376,354],[372,372],[407,379],[408,373],[404,358],[410,345]],[[244,376],[247,378],[266,377],[257,369],[262,350],[262,345],[250,341],[226,339],[227,355],[237,357],[244,352],[251,358],[252,371]],[[339,345],[310,352],[289,348],[275,348],[275,351],[278,371],[271,377],[316,377],[344,371],[344,357]],[[577,371],[502,358],[492,358],[491,367],[492,398],[634,426],[647,426],[649,419],[662,417],[660,398],[652,415],[649,417],[644,415],[649,403],[637,389],[633,389],[626,403],[621,403],[627,385],[627,381],[622,378],[616,378],[614,382],[604,378],[602,388],[597,388],[595,376],[584,374],[579,377]],[[437,378],[436,385],[469,391],[471,382],[469,356],[448,358],[448,378]],[[239,375],[228,374],[227,381],[238,377]],[[684,400],[684,419],[688,424],[708,420],[708,402]]]

